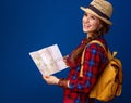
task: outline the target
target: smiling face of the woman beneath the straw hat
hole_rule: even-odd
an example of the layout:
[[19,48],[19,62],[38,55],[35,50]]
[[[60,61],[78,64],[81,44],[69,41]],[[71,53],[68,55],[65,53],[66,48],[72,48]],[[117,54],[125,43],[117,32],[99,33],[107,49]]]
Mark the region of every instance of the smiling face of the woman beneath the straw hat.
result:
[[83,15],[83,31],[84,33],[94,33],[102,27],[100,20],[90,13]]

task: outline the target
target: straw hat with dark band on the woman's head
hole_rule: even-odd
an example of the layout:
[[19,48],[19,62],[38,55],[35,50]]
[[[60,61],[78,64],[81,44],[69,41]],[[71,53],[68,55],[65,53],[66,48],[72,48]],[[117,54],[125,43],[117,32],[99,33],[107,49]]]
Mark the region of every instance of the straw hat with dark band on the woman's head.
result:
[[112,5],[106,0],[93,0],[87,8],[81,7],[84,12],[91,13],[105,23],[111,25],[110,17],[112,14]]

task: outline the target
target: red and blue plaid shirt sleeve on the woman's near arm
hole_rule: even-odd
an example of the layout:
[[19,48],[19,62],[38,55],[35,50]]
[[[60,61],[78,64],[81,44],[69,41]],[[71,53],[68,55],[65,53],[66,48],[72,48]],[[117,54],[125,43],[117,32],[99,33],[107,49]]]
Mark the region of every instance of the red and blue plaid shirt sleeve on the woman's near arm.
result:
[[[70,79],[70,89],[79,92],[88,93],[96,82],[98,70],[102,64],[102,52],[99,51],[97,44],[88,44],[85,49],[84,62],[83,64],[83,77],[79,77],[80,68],[78,68],[78,74],[72,76]],[[75,79],[76,78],[76,79]]]

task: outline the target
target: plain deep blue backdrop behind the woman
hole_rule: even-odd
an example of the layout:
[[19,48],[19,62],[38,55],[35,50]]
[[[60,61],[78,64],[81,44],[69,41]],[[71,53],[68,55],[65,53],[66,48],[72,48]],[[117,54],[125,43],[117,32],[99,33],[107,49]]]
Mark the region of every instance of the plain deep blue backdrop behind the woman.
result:
[[[110,50],[123,64],[123,90],[112,103],[128,103],[131,95],[130,3],[109,0],[114,25],[106,35]],[[83,11],[91,0],[0,1],[0,103],[62,103],[62,89],[48,86],[28,53],[58,43],[69,54],[85,34]],[[66,77],[68,69],[56,74]]]

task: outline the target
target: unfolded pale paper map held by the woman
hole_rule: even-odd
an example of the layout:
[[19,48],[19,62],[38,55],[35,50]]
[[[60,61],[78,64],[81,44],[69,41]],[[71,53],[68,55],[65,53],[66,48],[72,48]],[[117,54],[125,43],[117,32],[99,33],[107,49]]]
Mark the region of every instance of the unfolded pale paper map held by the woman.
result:
[[58,44],[29,52],[29,55],[43,76],[52,75],[68,67]]

